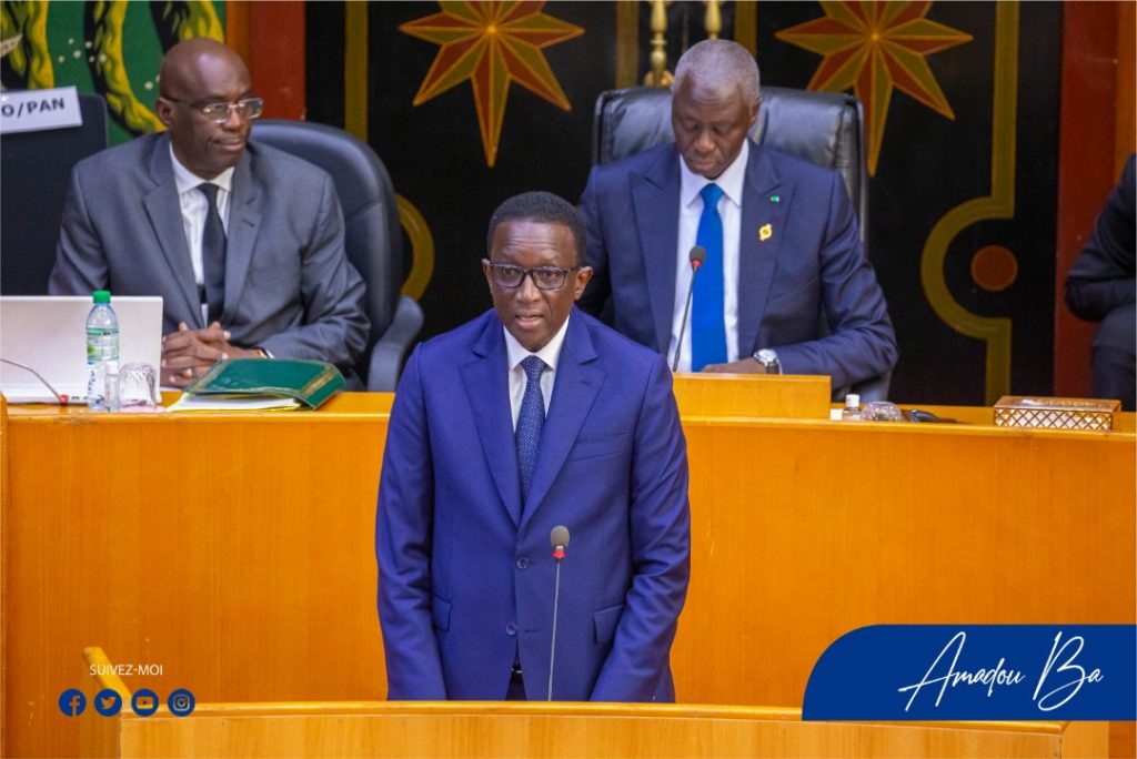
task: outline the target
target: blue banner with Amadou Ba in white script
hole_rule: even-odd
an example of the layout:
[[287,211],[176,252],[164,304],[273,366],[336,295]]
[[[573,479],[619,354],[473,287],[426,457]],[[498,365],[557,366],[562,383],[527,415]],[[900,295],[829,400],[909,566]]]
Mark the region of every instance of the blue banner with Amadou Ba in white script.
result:
[[1137,719],[1135,625],[874,625],[813,667],[803,719]]

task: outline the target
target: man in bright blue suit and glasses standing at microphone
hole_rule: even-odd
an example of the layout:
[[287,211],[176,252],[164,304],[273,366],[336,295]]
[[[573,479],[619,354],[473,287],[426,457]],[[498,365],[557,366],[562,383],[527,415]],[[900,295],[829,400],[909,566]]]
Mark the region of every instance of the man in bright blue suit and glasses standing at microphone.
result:
[[389,699],[674,700],[687,447],[663,358],[573,307],[584,240],[561,198],[507,200],[493,310],[404,370],[375,524]]

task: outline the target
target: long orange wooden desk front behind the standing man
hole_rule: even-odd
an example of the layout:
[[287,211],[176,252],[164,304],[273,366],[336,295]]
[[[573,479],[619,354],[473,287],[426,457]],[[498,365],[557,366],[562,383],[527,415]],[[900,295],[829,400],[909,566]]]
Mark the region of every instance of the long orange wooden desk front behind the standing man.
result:
[[[10,409],[5,750],[69,754],[80,651],[201,702],[374,700],[374,509],[391,397],[317,412]],[[688,416],[687,703],[800,704],[873,623],[1132,623],[1135,436]],[[83,453],[117,466],[92,470]],[[96,718],[88,715],[85,718]]]

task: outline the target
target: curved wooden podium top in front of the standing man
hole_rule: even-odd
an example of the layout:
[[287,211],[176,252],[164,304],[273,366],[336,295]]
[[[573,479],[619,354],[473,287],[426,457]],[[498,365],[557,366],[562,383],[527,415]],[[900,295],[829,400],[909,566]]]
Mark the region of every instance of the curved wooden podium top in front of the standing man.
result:
[[1104,723],[803,723],[794,709],[662,704],[390,702],[206,704],[124,715],[103,754],[389,759],[750,759],[1101,756]]

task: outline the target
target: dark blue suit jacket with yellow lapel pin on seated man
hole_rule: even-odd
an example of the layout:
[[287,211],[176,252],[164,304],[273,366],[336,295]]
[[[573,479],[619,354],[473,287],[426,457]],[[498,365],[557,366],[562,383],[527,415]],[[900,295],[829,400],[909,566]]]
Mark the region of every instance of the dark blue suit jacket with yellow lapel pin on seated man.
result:
[[[679,160],[667,143],[596,166],[581,198],[596,269],[581,307],[661,353],[675,300]],[[888,307],[839,174],[752,142],[739,240],[739,357],[775,348],[783,373],[825,374],[835,387],[896,365]]]

